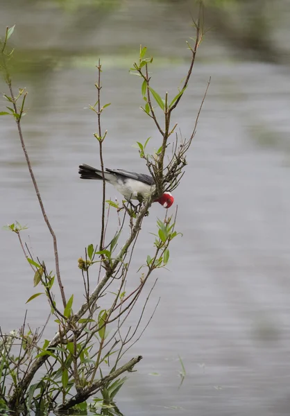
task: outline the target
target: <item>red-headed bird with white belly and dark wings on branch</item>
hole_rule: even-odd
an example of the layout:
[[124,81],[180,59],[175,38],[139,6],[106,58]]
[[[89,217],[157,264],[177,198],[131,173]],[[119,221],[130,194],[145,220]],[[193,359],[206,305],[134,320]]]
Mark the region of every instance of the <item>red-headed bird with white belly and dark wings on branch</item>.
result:
[[[103,180],[103,173],[100,169],[93,168],[87,164],[79,166],[80,179]],[[123,169],[109,169],[104,171],[105,181],[112,184],[126,200],[144,200],[153,191],[155,182],[153,177],[145,173],[135,173]],[[159,202],[162,207],[169,208],[174,202],[170,192],[164,192],[160,198],[153,202]]]

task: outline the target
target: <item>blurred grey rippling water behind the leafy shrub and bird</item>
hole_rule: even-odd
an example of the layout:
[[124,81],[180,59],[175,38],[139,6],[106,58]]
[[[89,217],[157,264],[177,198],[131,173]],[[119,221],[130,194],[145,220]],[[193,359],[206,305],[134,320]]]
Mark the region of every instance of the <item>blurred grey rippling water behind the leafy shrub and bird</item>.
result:
[[[95,64],[103,63],[105,165],[144,171],[135,141],[160,137],[128,68],[139,44],[154,55],[153,87],[177,91],[194,35],[189,1],[1,0],[1,33],[16,24],[15,87],[28,89],[23,128],[46,211],[58,236],[67,295],[83,302],[77,259],[99,239],[101,187],[78,179],[78,164],[99,165]],[[155,316],[127,358],[142,354],[117,396],[131,415],[289,415],[290,408],[290,74],[289,1],[207,1],[194,75],[173,121],[188,137],[207,85],[186,174],[175,191],[178,231],[148,315]],[[1,90],[6,91],[1,84]],[[3,110],[5,103],[1,101]],[[35,255],[53,269],[49,232],[37,205],[15,123],[1,117],[0,224],[18,220]],[[119,198],[108,187],[108,196]],[[152,250],[153,205],[130,279]],[[114,231],[112,220],[110,230]],[[28,309],[32,327],[48,306],[33,293],[31,269],[14,234],[0,231],[3,331]],[[134,322],[134,317],[131,318]],[[53,335],[53,322],[46,338]],[[182,386],[178,356],[186,369]]]

